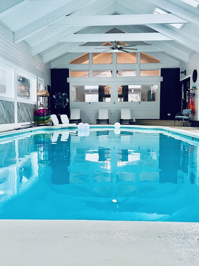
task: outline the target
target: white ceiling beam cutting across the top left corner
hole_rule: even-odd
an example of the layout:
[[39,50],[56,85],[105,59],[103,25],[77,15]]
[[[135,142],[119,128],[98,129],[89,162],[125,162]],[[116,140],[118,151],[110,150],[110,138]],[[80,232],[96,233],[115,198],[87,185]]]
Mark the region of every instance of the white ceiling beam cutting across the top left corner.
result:
[[0,0],[0,17],[20,8],[25,2],[26,0]]

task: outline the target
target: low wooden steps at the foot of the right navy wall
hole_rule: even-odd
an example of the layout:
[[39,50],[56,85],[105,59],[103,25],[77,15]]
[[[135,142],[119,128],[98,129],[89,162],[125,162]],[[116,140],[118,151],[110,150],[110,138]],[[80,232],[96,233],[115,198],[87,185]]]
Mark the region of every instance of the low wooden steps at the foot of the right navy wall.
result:
[[[133,122],[134,125],[139,126],[163,126],[163,127],[174,127],[174,120],[160,120],[160,119],[136,119]],[[181,121],[176,121],[175,126],[182,127]],[[190,127],[188,121],[184,121],[184,126]]]

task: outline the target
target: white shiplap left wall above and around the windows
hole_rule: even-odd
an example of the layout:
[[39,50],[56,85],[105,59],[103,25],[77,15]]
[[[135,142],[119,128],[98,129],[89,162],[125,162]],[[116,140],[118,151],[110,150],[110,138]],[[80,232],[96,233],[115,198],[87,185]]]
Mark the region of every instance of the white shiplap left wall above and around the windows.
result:
[[[18,44],[13,43],[13,32],[2,23],[0,23],[0,60],[11,63],[16,66],[15,69],[19,68],[25,70],[25,72],[29,72],[35,77],[44,79],[44,86],[51,85],[50,63],[43,64],[42,58],[39,55],[31,56],[31,48],[25,41]],[[0,100],[14,101],[15,106],[17,103],[16,97],[12,99],[0,97]],[[20,99],[20,102],[23,102],[23,99]],[[24,102],[27,103],[27,100],[24,100]],[[36,101],[30,102],[30,104],[36,104]],[[15,118],[17,118],[16,112],[17,109],[15,108]],[[17,119],[15,119],[15,121],[17,121]],[[18,126],[16,122],[15,124],[2,124],[0,128],[15,126]]]

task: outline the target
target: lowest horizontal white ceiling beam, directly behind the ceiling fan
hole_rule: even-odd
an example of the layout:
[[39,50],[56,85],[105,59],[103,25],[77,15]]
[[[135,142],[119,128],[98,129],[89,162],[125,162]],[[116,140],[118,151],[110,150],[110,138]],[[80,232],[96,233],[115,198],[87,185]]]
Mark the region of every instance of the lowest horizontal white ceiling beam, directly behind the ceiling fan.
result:
[[[111,47],[111,46],[109,46]],[[104,50],[108,50],[109,47],[107,46],[77,46],[75,48],[72,48],[68,50],[70,53],[101,53],[104,52]],[[125,48],[128,48],[128,46],[122,46],[125,50]],[[129,48],[135,48],[137,50],[128,50],[129,52],[159,52],[163,51],[158,47],[155,47],[153,45],[140,45],[140,46],[135,46],[135,47],[129,47]],[[113,52],[113,50],[109,49],[107,52]],[[121,52],[121,51],[119,51]]]

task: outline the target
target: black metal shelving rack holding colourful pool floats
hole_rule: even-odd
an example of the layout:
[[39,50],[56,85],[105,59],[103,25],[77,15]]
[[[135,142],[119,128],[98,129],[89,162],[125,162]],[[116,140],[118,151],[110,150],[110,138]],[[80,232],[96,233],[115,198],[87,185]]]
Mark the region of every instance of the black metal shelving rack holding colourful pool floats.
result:
[[[40,92],[37,92],[37,111],[44,109],[44,123],[39,123],[39,116],[37,116],[37,123],[38,124],[44,124],[44,125],[50,125],[50,122],[46,122],[46,118],[50,113],[50,96],[46,94],[48,91],[44,91],[44,94]],[[39,95],[38,95],[39,94]],[[39,104],[41,103],[41,104]],[[47,112],[49,110],[49,112]],[[40,116],[42,117],[42,116]]]

